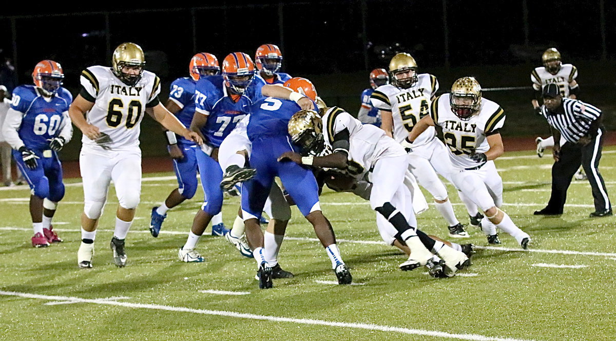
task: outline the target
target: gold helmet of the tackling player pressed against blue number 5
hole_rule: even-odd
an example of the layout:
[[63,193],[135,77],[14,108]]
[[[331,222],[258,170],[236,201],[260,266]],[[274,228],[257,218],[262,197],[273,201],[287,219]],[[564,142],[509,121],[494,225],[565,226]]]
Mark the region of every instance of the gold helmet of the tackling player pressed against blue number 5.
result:
[[323,121],[314,110],[299,110],[291,116],[288,124],[291,141],[302,155],[317,155],[325,148]]

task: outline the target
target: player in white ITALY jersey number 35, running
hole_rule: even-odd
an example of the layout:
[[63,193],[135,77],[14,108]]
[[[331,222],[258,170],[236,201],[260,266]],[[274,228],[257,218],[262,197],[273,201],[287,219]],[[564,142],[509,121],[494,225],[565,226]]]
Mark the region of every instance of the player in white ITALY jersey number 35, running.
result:
[[494,159],[503,154],[500,128],[505,123],[503,109],[482,99],[479,82],[472,77],[459,78],[452,91],[430,105],[430,115],[419,120],[408,134],[411,146],[431,126],[442,129],[452,160],[453,184],[484,212],[481,227],[490,244],[500,244],[496,227],[511,234],[523,249],[530,236],[513,223],[503,204],[503,180],[496,172]]

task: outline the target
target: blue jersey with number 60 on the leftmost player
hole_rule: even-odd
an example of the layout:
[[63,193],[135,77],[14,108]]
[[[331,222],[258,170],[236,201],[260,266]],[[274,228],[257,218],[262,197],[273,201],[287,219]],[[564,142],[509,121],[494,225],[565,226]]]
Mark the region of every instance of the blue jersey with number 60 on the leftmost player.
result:
[[49,139],[55,138],[66,123],[64,112],[73,102],[65,88],[46,101],[33,85],[21,85],[13,91],[10,107],[23,113],[22,125],[17,133],[26,147],[33,150],[49,149]]

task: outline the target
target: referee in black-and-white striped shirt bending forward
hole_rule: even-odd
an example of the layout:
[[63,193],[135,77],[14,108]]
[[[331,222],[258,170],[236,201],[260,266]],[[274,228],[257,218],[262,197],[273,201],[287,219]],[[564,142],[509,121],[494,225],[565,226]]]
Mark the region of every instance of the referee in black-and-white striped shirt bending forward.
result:
[[[575,99],[562,98],[557,84],[543,87],[543,117],[548,120],[554,136],[554,165],[552,166],[552,194],[548,205],[535,215],[561,215],[567,199],[567,189],[580,163],[593,189],[594,216],[612,215],[612,204],[607,197],[606,184],[599,173],[599,160],[605,128],[601,124],[601,110]],[[565,139],[559,146],[557,141]]]

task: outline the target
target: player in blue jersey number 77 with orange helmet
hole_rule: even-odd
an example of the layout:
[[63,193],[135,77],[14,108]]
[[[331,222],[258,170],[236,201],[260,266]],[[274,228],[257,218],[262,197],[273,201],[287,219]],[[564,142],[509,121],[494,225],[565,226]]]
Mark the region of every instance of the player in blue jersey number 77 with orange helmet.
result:
[[[221,76],[197,81],[196,112],[190,129],[205,139],[196,152],[205,200],[195,215],[186,243],[178,252],[182,261],[204,260],[195,251],[195,246],[212,217],[222,208],[222,169],[218,163],[218,148],[237,123],[250,113],[251,105],[262,97],[261,88],[265,82],[254,73],[253,60],[243,52],[233,52],[222,62]],[[222,231],[223,234],[226,232]]]

